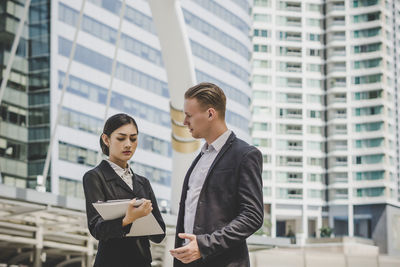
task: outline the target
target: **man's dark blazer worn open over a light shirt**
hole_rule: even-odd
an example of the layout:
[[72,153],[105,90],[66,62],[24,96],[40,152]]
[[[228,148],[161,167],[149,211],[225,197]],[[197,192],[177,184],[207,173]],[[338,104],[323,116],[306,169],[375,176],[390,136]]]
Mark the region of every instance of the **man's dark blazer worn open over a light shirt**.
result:
[[[185,200],[192,163],[183,182],[176,233],[184,232]],[[232,133],[218,153],[201,189],[193,233],[202,258],[190,264],[174,259],[174,266],[250,266],[246,238],[263,224],[261,152]],[[175,237],[175,247],[182,246]]]

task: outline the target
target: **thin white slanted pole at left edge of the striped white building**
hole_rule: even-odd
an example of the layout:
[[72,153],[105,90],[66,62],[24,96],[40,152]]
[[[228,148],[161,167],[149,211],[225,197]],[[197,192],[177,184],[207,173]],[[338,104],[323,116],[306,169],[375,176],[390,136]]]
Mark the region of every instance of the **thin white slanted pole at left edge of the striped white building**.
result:
[[65,78],[64,78],[64,81],[63,81],[63,87],[62,87],[62,90],[61,90],[60,101],[58,102],[56,121],[55,121],[55,124],[54,124],[54,128],[51,131],[49,148],[47,149],[46,161],[44,162],[44,168],[43,168],[43,174],[42,174],[43,175],[44,186],[46,186],[47,174],[49,172],[50,158],[51,158],[51,154],[52,154],[51,152],[53,150],[53,143],[54,143],[54,139],[55,139],[56,134],[57,134],[57,127],[58,127],[58,123],[59,123],[60,117],[61,117],[61,109],[62,109],[62,104],[63,104],[63,100],[64,100],[65,91],[66,91],[67,85],[68,85],[69,72],[71,70],[72,60],[74,59],[74,56],[75,56],[76,41],[78,39],[78,33],[79,33],[80,28],[81,28],[81,22],[82,22],[82,17],[83,17],[83,10],[85,8],[85,3],[86,3],[86,0],[82,0],[81,10],[79,12],[78,21],[77,21],[77,25],[76,25],[76,28],[75,28],[74,41],[72,43],[71,52],[69,54],[67,71],[65,73]]

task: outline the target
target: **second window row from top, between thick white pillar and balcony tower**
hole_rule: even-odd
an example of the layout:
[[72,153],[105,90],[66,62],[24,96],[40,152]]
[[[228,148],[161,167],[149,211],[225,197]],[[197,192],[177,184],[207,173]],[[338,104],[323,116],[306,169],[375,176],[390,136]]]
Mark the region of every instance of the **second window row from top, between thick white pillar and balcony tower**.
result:
[[195,41],[190,42],[193,54],[204,59],[210,64],[213,64],[226,72],[231,73],[232,75],[240,78],[243,81],[249,80],[249,73],[239,66],[236,63],[220,56],[219,54],[215,53],[214,51],[200,45]]

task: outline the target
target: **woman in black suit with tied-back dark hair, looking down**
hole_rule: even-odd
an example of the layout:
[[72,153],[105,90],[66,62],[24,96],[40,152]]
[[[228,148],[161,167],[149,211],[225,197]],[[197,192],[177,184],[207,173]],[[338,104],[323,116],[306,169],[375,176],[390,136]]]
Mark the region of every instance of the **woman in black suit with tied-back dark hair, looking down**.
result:
[[[94,266],[150,267],[149,239],[160,243],[165,234],[146,237],[125,237],[132,222],[153,213],[165,232],[165,224],[149,181],[129,168],[128,161],[135,153],[138,127],[127,114],[111,116],[104,125],[100,146],[109,158],[83,176],[86,214],[89,231],[99,240]],[[135,207],[136,199],[145,199]],[[103,220],[92,203],[112,199],[132,199],[125,216]],[[132,229],[134,231],[134,229]]]

